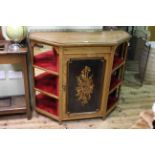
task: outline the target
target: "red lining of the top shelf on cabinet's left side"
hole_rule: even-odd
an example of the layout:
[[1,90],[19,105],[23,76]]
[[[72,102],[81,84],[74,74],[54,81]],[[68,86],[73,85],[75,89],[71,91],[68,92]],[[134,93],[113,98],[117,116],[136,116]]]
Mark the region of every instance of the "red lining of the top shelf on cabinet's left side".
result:
[[58,72],[58,55],[55,49],[35,55],[34,65]]

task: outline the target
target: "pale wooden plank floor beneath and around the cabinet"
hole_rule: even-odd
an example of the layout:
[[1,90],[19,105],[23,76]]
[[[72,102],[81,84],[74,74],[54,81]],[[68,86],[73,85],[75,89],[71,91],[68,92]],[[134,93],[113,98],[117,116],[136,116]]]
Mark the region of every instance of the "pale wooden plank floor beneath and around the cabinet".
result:
[[15,129],[128,129],[138,120],[143,110],[150,109],[155,101],[155,85],[141,86],[134,72],[126,72],[117,108],[105,120],[86,119],[67,121],[61,125],[47,117],[33,113],[27,120],[25,115],[1,116],[0,128]]

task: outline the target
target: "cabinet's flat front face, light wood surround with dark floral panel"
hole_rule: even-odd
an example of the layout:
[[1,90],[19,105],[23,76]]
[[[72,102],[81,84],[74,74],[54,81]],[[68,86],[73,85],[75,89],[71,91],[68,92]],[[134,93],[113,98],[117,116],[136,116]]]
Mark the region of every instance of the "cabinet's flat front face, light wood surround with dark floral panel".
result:
[[62,61],[64,120],[103,117],[109,93],[111,48],[68,48]]

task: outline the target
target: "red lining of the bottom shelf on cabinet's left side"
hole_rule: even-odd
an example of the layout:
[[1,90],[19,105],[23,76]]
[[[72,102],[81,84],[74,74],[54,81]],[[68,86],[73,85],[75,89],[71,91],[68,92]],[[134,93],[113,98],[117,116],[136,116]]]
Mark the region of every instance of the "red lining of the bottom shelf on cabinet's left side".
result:
[[58,102],[56,99],[39,94],[36,96],[36,106],[39,109],[58,116]]

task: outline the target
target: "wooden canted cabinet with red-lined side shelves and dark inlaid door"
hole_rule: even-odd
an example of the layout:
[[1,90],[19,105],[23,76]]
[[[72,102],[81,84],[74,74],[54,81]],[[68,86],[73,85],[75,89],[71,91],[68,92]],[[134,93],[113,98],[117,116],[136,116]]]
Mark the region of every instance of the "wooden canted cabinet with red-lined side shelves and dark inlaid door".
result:
[[31,33],[35,110],[58,121],[104,118],[119,99],[129,38],[124,31]]

